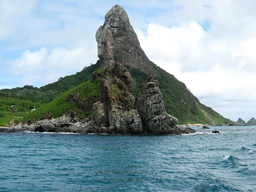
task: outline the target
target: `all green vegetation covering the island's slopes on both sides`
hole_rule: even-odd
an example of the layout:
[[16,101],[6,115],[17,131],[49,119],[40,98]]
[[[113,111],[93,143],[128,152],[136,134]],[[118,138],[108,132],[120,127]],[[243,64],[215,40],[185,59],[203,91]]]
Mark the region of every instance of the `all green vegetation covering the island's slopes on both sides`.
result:
[[[159,82],[166,112],[177,117],[180,124],[211,124],[214,121],[225,124],[231,122],[229,119],[225,119],[216,111],[212,110],[212,108],[202,105],[190,93],[186,85],[178,81],[173,75],[157,67],[155,64],[153,65],[159,74],[155,79]],[[26,115],[25,120],[38,120],[46,113],[52,113],[53,117],[58,117],[69,110],[77,111],[79,116],[85,117],[84,112],[78,109],[78,103],[83,98],[87,98],[87,96],[92,94],[98,95],[100,93],[100,80],[97,79],[94,83],[90,80],[94,70],[97,70],[97,73],[102,74],[102,76],[106,75],[105,69],[99,69],[99,66],[100,62],[97,61],[96,64],[85,67],[75,75],[59,78],[57,82],[47,84],[40,88],[25,85],[24,87],[0,90],[0,125],[6,124],[9,119],[14,119],[16,113],[12,112],[15,112],[16,109],[19,112],[27,111],[29,113],[28,115],[21,115],[21,117]],[[136,89],[133,91],[133,95],[136,96],[140,84],[148,80],[148,75],[140,69],[134,69],[127,65],[125,67],[130,70],[136,83]],[[78,92],[80,94],[78,103],[67,101],[70,93],[76,95]],[[118,93],[118,86],[113,85],[111,94],[117,96]],[[11,105],[14,105],[14,107],[11,108]],[[34,106],[36,107],[36,111],[29,111]],[[87,117],[90,117],[90,114],[91,112]]]

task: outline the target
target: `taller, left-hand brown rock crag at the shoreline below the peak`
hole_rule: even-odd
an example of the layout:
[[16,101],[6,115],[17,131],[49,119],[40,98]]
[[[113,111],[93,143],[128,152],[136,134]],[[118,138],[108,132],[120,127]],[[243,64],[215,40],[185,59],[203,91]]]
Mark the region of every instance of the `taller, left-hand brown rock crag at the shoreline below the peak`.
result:
[[134,110],[135,83],[130,72],[119,63],[110,64],[101,79],[100,101],[93,104],[89,132],[105,134],[140,134],[142,122]]

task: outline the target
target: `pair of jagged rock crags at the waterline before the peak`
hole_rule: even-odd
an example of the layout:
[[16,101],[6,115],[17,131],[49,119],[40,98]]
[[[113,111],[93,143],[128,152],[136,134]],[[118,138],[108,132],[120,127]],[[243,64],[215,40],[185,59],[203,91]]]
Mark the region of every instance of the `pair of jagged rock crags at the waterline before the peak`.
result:
[[88,133],[96,134],[188,134],[167,114],[158,81],[143,83],[136,99],[130,72],[119,63],[109,64],[101,79],[100,101],[93,104]]

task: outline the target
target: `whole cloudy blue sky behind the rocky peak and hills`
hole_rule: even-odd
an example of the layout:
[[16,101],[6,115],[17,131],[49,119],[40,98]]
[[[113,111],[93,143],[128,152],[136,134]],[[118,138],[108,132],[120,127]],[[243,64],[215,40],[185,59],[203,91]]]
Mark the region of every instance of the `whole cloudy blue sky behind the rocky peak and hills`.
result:
[[0,89],[96,63],[95,33],[124,7],[148,58],[226,118],[256,117],[255,0],[1,0]]

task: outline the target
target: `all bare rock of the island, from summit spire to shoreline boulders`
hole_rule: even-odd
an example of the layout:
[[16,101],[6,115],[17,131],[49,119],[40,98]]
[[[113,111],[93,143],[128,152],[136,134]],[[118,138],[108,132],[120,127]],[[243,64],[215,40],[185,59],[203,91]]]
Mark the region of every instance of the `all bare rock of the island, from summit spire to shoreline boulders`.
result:
[[[92,108],[92,118],[81,121],[74,113],[38,121],[18,124],[2,131],[15,132],[74,132],[81,134],[188,134],[191,128],[177,125],[178,120],[166,113],[162,93],[158,87],[157,72],[140,47],[127,13],[114,6],[106,15],[103,26],[96,32],[100,67],[104,75],[93,72],[93,82],[100,79],[100,96],[84,99],[79,108]],[[148,82],[143,83],[136,98],[131,94],[135,82],[125,65],[145,68]],[[79,93],[70,94],[68,101],[77,101]]]

